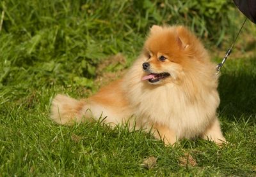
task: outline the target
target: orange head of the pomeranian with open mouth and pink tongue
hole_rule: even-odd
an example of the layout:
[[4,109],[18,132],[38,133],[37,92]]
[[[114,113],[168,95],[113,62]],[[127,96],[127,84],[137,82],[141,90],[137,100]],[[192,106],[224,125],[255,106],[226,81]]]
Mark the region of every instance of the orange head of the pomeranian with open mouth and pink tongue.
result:
[[202,48],[185,27],[153,25],[143,48],[145,60],[141,66],[144,71],[141,80],[154,85],[177,80],[198,63],[201,57],[196,56],[196,50],[202,51]]

